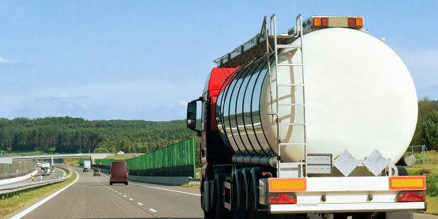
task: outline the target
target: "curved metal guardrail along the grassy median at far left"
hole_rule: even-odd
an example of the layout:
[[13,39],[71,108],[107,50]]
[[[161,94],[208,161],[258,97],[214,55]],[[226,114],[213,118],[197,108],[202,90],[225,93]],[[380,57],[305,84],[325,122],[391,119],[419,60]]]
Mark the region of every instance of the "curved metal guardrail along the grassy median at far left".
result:
[[[57,167],[60,168],[60,167]],[[19,183],[19,184],[12,184],[12,185],[6,185],[6,186],[0,186],[0,200],[13,197],[14,195],[17,195],[19,193],[27,192],[29,190],[33,190],[35,188],[40,188],[42,186],[48,186],[51,184],[57,184],[61,181],[65,181],[67,179],[70,179],[72,177],[72,170],[69,170],[67,168],[60,168],[67,170],[69,172],[69,175],[63,176],[60,179],[49,179],[47,181],[37,181],[37,182],[25,182],[25,183]]]

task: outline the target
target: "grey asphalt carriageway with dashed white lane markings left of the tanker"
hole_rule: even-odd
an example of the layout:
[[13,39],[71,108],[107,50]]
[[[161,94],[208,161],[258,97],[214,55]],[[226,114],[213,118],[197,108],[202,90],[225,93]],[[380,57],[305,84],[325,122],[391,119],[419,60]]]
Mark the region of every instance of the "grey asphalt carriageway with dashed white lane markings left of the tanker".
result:
[[197,188],[133,181],[109,186],[104,173],[73,170],[79,174],[75,184],[24,218],[203,218]]

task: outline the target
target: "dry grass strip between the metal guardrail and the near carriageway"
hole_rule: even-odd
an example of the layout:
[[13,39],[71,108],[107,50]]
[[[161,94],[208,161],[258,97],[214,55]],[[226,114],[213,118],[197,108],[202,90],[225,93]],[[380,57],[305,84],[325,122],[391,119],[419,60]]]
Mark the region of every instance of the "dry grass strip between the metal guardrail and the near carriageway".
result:
[[[64,170],[65,171],[65,170]],[[76,172],[72,172],[72,177],[58,184],[52,184],[50,186],[43,186],[30,190],[29,192],[19,193],[8,199],[0,200],[0,218],[7,216],[18,209],[22,209],[26,206],[38,202],[52,193],[64,188],[68,184],[71,184],[78,176]]]

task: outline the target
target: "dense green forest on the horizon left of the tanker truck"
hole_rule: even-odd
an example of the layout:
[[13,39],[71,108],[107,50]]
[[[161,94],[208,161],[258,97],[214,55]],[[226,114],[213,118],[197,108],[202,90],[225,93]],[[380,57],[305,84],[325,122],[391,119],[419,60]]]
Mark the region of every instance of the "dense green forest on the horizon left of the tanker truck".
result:
[[195,136],[184,120],[84,120],[0,118],[0,149],[10,152],[147,153]]

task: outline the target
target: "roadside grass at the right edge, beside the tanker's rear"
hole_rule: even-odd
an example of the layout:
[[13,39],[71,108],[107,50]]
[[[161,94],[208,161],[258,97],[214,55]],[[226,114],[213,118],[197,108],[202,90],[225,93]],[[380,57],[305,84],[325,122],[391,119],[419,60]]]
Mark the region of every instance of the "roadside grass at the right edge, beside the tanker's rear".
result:
[[438,215],[438,152],[426,152],[426,162],[423,164],[421,154],[414,154],[416,157],[416,165],[406,168],[409,175],[419,175],[421,170],[430,170],[432,174],[426,175],[426,202],[428,209],[421,213],[430,213]]

